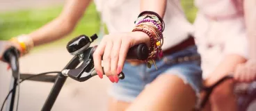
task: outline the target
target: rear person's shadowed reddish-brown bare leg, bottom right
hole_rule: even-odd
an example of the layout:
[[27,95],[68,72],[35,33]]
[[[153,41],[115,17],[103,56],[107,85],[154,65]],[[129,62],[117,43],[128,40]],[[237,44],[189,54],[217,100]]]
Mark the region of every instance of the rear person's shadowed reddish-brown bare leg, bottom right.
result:
[[210,97],[212,111],[237,111],[237,99],[233,88],[234,82],[228,80],[214,89]]

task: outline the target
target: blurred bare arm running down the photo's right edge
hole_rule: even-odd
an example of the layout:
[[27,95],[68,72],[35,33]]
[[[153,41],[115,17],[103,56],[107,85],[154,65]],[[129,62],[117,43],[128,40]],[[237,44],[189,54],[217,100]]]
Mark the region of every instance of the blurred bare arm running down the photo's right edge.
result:
[[249,43],[249,57],[256,60],[256,1],[244,0],[244,16],[246,21],[246,33]]

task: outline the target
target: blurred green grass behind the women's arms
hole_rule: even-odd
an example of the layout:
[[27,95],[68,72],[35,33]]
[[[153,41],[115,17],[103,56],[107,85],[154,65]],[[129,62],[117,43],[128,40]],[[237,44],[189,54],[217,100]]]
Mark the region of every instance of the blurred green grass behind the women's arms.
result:
[[[197,11],[193,6],[193,0],[182,0],[182,6],[186,13],[186,17],[189,19],[189,22],[192,23],[195,19],[195,12]],[[61,13],[62,8],[63,6],[54,6],[0,12],[0,40],[9,40],[11,37],[30,33],[31,31],[40,28],[57,17]],[[58,40],[44,46],[65,44],[68,40],[72,39],[72,37],[81,34],[92,35],[93,33],[99,32],[99,25],[99,16],[95,10],[95,4],[92,3],[78,26],[70,35],[63,40]]]

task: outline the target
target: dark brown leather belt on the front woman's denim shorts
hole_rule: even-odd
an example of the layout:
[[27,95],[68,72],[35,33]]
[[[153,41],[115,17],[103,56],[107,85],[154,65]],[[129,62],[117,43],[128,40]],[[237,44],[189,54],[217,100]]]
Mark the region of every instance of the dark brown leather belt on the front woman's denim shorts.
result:
[[[193,45],[195,45],[195,39],[192,35],[189,35],[189,37],[186,40],[184,40],[183,42],[180,42],[179,44],[171,47],[170,49],[164,50],[163,55],[176,53],[177,51],[182,51],[182,50],[188,48],[189,46],[193,46]],[[143,61],[138,61],[138,60],[128,60],[128,62],[130,62],[131,65],[139,65],[139,64],[143,63]]]

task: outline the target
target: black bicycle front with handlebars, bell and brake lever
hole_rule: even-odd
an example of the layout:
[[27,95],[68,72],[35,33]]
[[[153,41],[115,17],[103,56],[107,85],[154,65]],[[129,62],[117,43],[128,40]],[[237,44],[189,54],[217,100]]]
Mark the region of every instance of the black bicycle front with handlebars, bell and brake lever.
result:
[[[15,105],[15,96],[17,94],[17,106],[19,101],[19,83],[22,83],[24,80],[35,80],[41,82],[54,83],[54,86],[51,88],[51,92],[45,101],[45,104],[42,106],[42,111],[51,110],[54,105],[58,94],[61,92],[65,80],[67,77],[70,77],[79,82],[84,82],[93,76],[97,75],[93,65],[93,52],[97,46],[90,47],[90,44],[97,39],[97,35],[92,35],[90,37],[86,35],[80,35],[75,37],[73,40],[67,43],[67,51],[74,56],[70,62],[64,67],[62,71],[49,71],[42,74],[19,74],[19,52],[14,47],[10,47],[5,51],[3,58],[10,64],[10,67],[13,72],[13,78],[10,85],[10,92],[6,96],[6,99],[3,101],[1,106],[1,111],[3,106],[8,100],[8,105],[6,110],[13,111]],[[146,60],[148,57],[148,47],[146,44],[138,44],[131,47],[127,53],[127,60]],[[81,65],[80,65],[81,63]],[[79,66],[80,65],[80,66]],[[79,67],[77,67],[79,66]],[[77,68],[76,68],[77,67]],[[58,74],[57,76],[51,76],[47,74]],[[118,78],[121,80],[125,78],[125,74],[122,72],[118,74]],[[16,106],[16,110],[17,107]]]

